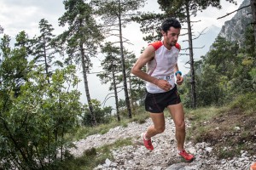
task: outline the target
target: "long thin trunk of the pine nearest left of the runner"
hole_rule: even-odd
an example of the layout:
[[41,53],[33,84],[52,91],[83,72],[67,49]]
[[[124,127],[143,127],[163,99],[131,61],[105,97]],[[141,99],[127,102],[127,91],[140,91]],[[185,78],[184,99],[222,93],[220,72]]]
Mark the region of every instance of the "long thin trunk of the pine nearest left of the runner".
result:
[[125,73],[125,57],[124,57],[124,48],[123,48],[123,37],[122,37],[122,24],[121,24],[121,5],[119,0],[119,40],[120,40],[120,51],[121,51],[121,60],[122,60],[122,72],[123,72],[123,79],[124,79],[124,90],[125,90],[125,103],[128,111],[128,116],[131,118],[131,105],[130,99],[127,89],[127,81],[126,81],[126,73]]

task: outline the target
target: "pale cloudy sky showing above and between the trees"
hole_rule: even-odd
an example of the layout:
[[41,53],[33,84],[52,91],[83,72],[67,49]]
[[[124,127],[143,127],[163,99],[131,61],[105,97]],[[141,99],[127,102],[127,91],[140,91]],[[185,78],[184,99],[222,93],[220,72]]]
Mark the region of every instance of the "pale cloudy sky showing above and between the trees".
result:
[[[204,10],[202,13],[198,12],[196,17],[192,20],[201,20],[201,22],[196,23],[193,28],[195,34],[201,32],[206,28],[206,34],[211,34],[211,29],[218,31],[224,26],[224,22],[230,20],[236,13],[230,14],[224,19],[217,20],[218,17],[224,16],[227,13],[230,13],[236,10],[242,3],[243,0],[237,0],[237,5],[232,3],[227,3],[225,0],[220,0],[222,9],[209,7]],[[9,35],[15,39],[15,36],[20,31],[26,31],[29,37],[34,37],[39,35],[38,23],[40,20],[45,19],[49,21],[55,30],[53,33],[55,35],[61,34],[65,28],[62,28],[58,25],[58,19],[64,14],[65,9],[62,3],[62,0],[0,0],[0,26],[3,26],[4,34]],[[158,12],[158,3],[156,0],[148,0],[147,4],[143,8],[143,11]],[[185,26],[184,26],[185,27]],[[137,57],[140,54],[142,48],[147,47],[148,43],[143,41],[143,34],[139,30],[139,25],[133,23],[129,26],[126,26],[123,29],[124,37],[128,38],[133,45],[128,45],[125,48],[128,48],[130,51],[133,51]],[[209,36],[209,35],[208,35]],[[3,34],[0,35],[3,37]],[[187,37],[180,37],[179,42],[183,47],[183,40],[186,40]],[[197,40],[200,42],[200,39]],[[212,44],[212,41],[204,42],[207,48],[195,51],[197,55],[205,54]],[[188,60],[189,56],[180,56],[178,60],[178,65],[180,71],[187,73],[189,71],[188,66],[184,63]],[[94,66],[92,72],[100,71],[100,59],[93,59]],[[79,76],[81,77],[81,76]],[[82,77],[81,77],[82,78]],[[90,97],[92,99],[98,99],[101,102],[104,101],[105,97],[109,93],[108,85],[102,85],[96,75],[89,75],[89,88],[90,88]],[[84,84],[83,81],[79,83],[79,90],[82,93],[81,102],[86,102],[86,97],[84,93]],[[120,96],[124,96],[121,94]],[[122,98],[122,97],[121,97]],[[105,106],[111,105],[114,107],[114,101],[108,99]]]

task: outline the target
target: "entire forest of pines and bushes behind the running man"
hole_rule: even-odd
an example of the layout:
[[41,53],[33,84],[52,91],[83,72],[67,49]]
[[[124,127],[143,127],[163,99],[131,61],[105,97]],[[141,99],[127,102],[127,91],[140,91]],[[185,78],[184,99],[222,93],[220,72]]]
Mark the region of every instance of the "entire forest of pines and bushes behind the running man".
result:
[[[20,169],[55,167],[66,158],[67,149],[72,146],[66,137],[68,133],[75,133],[81,126],[96,127],[111,122],[113,117],[120,121],[134,116],[143,103],[145,91],[144,82],[130,72],[139,53],[134,54],[134,48],[125,47],[126,43],[134,43],[129,38],[137,37],[139,31],[131,33],[127,29],[127,37],[122,32],[124,26],[133,21],[141,24],[146,41],[160,39],[160,22],[166,16],[176,16],[184,27],[188,24],[185,30],[189,32],[184,34],[189,35],[189,40],[181,37],[181,41],[189,41],[183,54],[189,55],[189,59],[184,60],[190,69],[188,72],[185,67],[181,69],[187,74],[179,88],[187,108],[225,105],[239,95],[254,99],[253,25],[247,26],[242,40],[229,42],[224,37],[217,37],[210,51],[196,61],[192,37],[203,36],[204,28],[197,28],[198,33],[192,31],[194,25],[190,25],[193,22],[190,16],[209,5],[220,8],[220,4],[218,1],[174,2],[175,5],[171,5],[158,1],[163,12],[143,14],[139,8],[143,7],[144,1],[63,1],[65,11],[58,19],[59,25],[64,27],[61,33],[54,35],[55,28],[43,18],[38,23],[38,35],[32,37],[26,31],[20,31],[14,36],[15,40],[6,34],[1,23],[1,166],[6,169],[14,166]],[[133,47],[137,47],[137,43],[134,44]],[[93,92],[102,91],[88,78],[97,63],[93,57],[102,61],[102,71],[96,70],[96,76],[109,86],[103,90],[108,92],[103,95],[104,99],[108,99],[111,91],[115,107],[91,98]],[[80,102],[83,91],[79,88],[80,81],[84,84],[87,103]],[[121,99],[121,91],[124,91],[125,99]]]

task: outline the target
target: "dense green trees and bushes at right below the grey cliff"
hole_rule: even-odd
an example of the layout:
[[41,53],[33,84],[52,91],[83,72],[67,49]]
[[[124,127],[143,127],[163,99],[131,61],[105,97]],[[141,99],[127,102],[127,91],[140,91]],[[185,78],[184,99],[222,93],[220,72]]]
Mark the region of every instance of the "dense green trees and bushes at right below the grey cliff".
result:
[[[196,62],[197,106],[225,105],[237,95],[255,91],[256,59],[252,35],[252,28],[248,26],[241,48],[236,42],[217,37],[207,55]],[[191,103],[189,86],[190,79],[185,77],[182,98],[187,107]]]

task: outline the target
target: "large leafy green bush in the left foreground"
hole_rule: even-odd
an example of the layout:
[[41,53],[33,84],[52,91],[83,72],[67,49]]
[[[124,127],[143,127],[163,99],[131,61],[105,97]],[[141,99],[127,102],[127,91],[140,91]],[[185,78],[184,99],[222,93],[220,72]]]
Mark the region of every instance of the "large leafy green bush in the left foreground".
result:
[[[79,126],[80,94],[68,90],[68,86],[74,88],[79,82],[75,67],[55,71],[49,84],[40,67],[27,71],[30,67],[26,48],[2,47],[5,52],[0,65],[1,164],[6,169],[54,166],[70,147],[65,133],[75,132]],[[19,95],[13,95],[16,87],[20,88]]]

